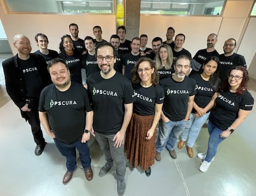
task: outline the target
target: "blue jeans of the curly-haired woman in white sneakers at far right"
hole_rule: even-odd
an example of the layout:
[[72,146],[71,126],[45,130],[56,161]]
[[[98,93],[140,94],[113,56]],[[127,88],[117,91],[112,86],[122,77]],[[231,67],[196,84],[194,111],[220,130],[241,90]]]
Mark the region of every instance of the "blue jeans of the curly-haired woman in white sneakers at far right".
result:
[[218,145],[225,138],[220,137],[220,134],[221,132],[223,132],[223,130],[220,130],[217,127],[215,127],[215,125],[211,121],[208,121],[208,132],[210,134],[210,138],[208,140],[208,150],[207,150],[207,156],[205,157],[205,161],[210,163],[213,157],[217,153]]

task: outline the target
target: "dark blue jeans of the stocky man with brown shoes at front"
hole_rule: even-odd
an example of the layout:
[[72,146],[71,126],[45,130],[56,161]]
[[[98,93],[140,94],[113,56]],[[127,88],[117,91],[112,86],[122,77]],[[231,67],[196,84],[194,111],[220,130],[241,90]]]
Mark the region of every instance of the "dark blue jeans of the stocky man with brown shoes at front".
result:
[[61,155],[66,157],[66,167],[67,171],[74,171],[77,168],[77,158],[75,148],[79,151],[79,157],[83,168],[87,169],[91,166],[91,158],[90,158],[90,149],[86,143],[82,143],[81,141],[66,144],[60,142],[58,139],[54,138],[54,142],[56,147],[61,152]]

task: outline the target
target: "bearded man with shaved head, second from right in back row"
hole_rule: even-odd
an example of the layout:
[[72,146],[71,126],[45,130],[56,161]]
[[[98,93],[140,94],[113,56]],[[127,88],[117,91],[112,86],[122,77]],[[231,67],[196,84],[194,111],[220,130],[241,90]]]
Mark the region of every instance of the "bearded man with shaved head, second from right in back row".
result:
[[211,56],[220,56],[220,54],[215,49],[215,44],[217,41],[218,36],[215,33],[208,35],[207,48],[198,50],[191,61],[191,68],[193,71],[198,72],[207,58]]

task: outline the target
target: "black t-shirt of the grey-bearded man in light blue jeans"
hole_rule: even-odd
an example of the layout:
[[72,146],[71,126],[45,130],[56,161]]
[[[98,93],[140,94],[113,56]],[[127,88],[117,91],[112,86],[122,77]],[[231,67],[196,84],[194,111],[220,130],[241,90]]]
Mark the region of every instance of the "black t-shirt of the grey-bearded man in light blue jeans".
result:
[[181,121],[187,114],[189,96],[195,95],[195,80],[185,77],[182,82],[176,82],[173,77],[160,80],[164,88],[163,113],[171,121]]

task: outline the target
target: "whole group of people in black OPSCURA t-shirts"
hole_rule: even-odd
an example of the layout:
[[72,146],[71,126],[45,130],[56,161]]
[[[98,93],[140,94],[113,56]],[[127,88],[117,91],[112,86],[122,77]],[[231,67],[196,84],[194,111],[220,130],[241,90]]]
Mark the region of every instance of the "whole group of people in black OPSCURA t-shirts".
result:
[[88,147],[93,135],[106,160],[99,176],[115,166],[117,193],[123,195],[126,158],[150,176],[164,148],[177,158],[179,137],[177,147],[187,143],[192,158],[192,147],[209,119],[207,153],[197,155],[202,160],[199,170],[205,172],[218,145],[252,110],[245,59],[234,53],[233,38],[225,41],[224,54],[219,55],[214,48],[217,35],[211,33],[207,48],[192,59],[182,48],[184,34],[173,41],[173,27],[168,28],[166,41],[153,38],[152,49],[147,48],[147,35],[126,40],[124,26],[109,42],[101,37],[100,26],[93,27],[95,39],[80,39],[75,23],[69,30],[71,35],[61,38],[59,53],[48,49],[43,33],[35,36],[35,53],[30,53],[26,36],[15,35],[17,55],[2,62],[7,93],[32,128],[35,155],[41,155],[46,145],[41,122],[66,157],[63,184],[77,169],[76,149],[85,178],[93,179]]

